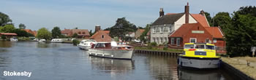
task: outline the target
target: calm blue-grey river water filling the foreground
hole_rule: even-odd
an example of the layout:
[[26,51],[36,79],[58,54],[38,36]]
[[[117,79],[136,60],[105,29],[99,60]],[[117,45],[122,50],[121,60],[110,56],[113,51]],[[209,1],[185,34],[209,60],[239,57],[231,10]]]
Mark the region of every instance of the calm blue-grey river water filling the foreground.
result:
[[[31,76],[4,76],[4,71]],[[91,57],[72,44],[0,41],[2,80],[233,80],[223,70],[177,69],[176,57],[135,53],[132,60]]]

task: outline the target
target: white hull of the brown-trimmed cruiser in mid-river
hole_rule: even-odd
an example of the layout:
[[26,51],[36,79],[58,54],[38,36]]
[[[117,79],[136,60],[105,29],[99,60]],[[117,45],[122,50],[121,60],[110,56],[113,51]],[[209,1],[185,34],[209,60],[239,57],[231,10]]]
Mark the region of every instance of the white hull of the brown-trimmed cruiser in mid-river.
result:
[[115,59],[132,59],[133,49],[89,49],[89,55],[96,57],[107,57]]

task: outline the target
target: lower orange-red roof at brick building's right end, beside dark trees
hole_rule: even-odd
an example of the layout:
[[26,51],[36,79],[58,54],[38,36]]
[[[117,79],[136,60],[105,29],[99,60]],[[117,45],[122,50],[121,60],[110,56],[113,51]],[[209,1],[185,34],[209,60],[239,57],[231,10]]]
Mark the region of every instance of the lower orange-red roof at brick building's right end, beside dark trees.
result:
[[219,27],[207,27],[206,30],[211,33],[214,38],[223,38],[222,30]]

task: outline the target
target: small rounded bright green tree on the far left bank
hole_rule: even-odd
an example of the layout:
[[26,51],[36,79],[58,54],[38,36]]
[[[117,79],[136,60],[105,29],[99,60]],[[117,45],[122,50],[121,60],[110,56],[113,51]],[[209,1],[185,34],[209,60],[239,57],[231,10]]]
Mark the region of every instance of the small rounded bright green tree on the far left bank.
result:
[[49,40],[51,38],[51,33],[46,28],[40,28],[37,31],[37,38],[38,39],[46,39]]

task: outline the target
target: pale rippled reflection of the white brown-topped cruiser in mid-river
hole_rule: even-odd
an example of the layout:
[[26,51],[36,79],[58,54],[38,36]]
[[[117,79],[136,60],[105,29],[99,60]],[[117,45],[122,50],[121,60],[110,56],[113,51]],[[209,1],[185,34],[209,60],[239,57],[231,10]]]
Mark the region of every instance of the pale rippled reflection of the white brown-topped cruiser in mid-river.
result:
[[91,68],[103,70],[105,73],[127,73],[135,69],[132,60],[116,60],[110,58],[89,56]]

